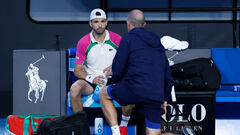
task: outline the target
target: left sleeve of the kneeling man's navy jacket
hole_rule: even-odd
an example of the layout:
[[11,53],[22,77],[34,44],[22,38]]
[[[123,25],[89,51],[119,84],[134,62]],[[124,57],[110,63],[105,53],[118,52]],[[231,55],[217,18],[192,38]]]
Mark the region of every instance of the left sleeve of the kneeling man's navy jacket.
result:
[[119,83],[127,71],[127,60],[129,52],[129,43],[125,38],[120,41],[119,48],[113,59],[112,72],[113,72],[113,83]]

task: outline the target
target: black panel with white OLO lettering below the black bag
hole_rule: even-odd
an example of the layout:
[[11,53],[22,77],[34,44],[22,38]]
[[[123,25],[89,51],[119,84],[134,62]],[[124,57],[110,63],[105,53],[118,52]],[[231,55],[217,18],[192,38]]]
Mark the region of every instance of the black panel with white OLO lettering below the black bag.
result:
[[[177,113],[177,110],[181,113]],[[183,126],[192,126],[197,135],[214,135],[215,94],[213,92],[177,92],[176,106],[169,103],[167,115],[163,115],[162,118],[169,123],[168,127],[163,123],[163,131],[169,128],[179,133]]]

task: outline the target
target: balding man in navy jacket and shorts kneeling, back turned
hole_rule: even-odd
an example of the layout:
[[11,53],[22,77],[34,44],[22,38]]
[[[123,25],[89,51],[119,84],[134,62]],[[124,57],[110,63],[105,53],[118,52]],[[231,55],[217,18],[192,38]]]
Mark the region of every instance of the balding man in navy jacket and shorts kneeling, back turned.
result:
[[113,84],[99,94],[113,135],[119,135],[119,127],[112,100],[122,106],[138,106],[145,117],[147,135],[161,134],[161,113],[162,109],[166,112],[173,80],[159,37],[145,26],[143,12],[132,10],[127,17],[129,33],[122,38],[113,60]]

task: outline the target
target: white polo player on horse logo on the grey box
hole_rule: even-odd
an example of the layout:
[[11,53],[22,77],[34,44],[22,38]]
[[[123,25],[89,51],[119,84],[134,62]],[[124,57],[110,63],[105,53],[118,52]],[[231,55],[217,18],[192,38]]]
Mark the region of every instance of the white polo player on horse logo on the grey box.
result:
[[32,102],[32,99],[30,98],[30,93],[32,91],[35,91],[34,103],[37,103],[40,93],[41,93],[41,102],[43,101],[44,92],[47,87],[46,82],[48,82],[47,80],[40,79],[40,76],[38,74],[39,68],[37,66],[34,66],[36,63],[38,63],[42,59],[45,59],[44,55],[42,55],[42,57],[40,59],[38,59],[37,61],[35,61],[34,63],[31,63],[28,66],[27,73],[25,74],[27,76],[28,82],[29,82],[28,100]]

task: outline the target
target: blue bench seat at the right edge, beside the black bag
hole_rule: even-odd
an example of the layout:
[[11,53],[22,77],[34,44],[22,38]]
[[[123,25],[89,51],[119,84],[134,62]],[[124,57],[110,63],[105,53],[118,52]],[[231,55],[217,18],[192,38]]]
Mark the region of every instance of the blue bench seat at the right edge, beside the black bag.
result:
[[216,118],[240,118],[240,48],[212,48],[213,61],[219,68],[221,88],[216,91]]

